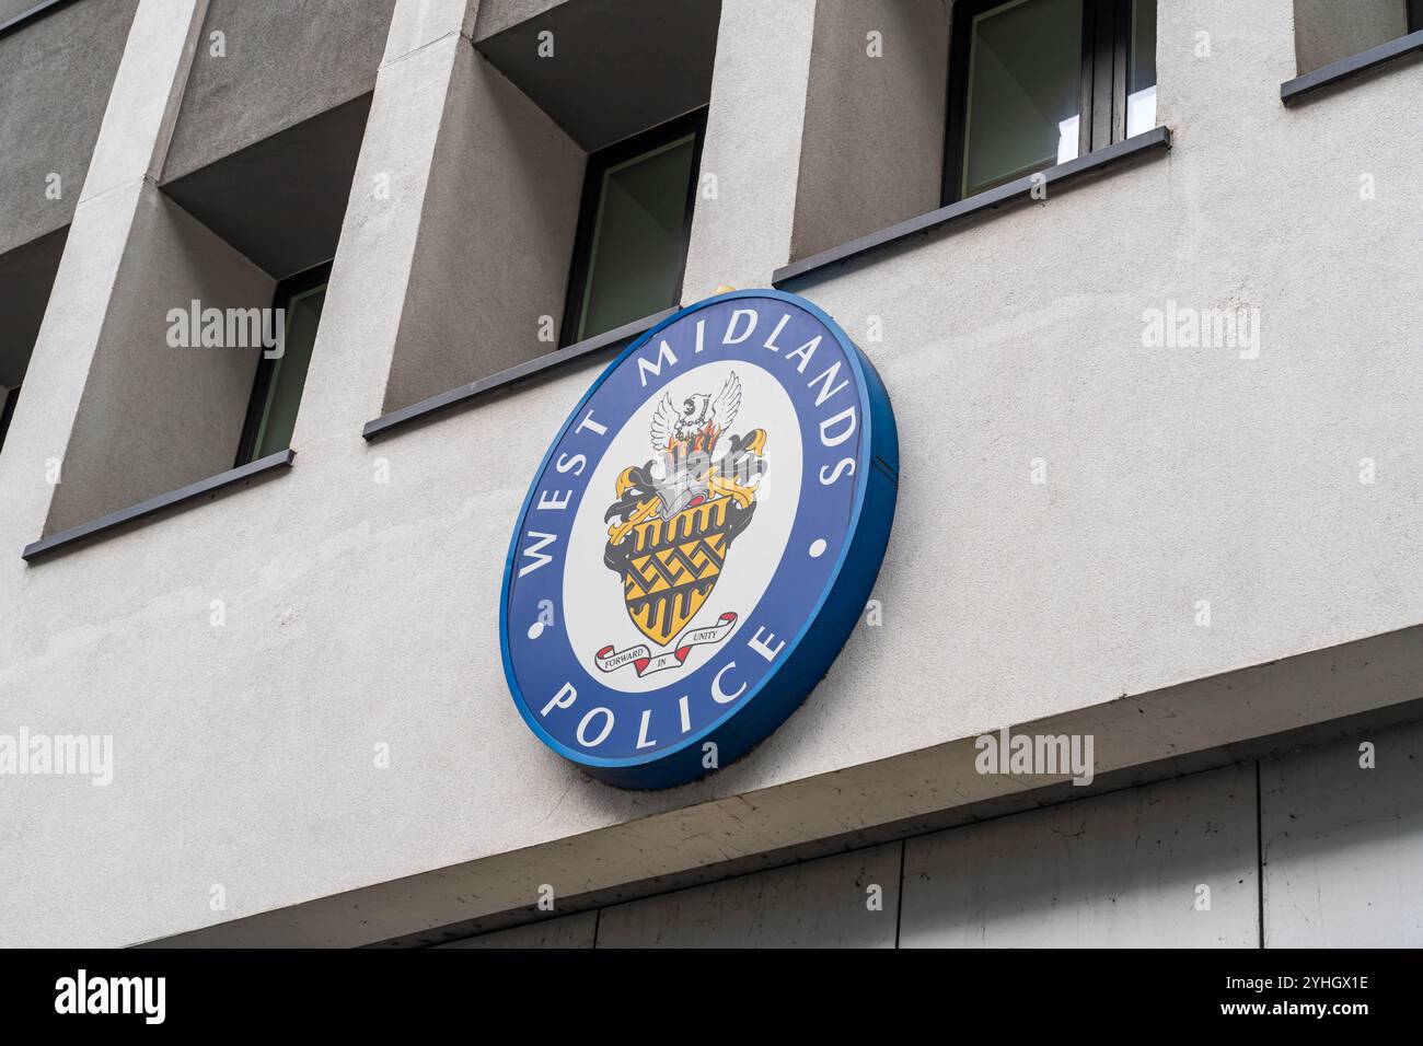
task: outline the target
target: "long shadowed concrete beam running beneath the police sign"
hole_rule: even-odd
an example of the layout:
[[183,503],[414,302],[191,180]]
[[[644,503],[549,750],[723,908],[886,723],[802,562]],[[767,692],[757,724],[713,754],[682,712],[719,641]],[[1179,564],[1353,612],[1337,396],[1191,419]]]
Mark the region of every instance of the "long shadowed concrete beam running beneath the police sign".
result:
[[[1050,801],[1062,801],[1064,791],[1084,798],[1123,787],[1130,773],[1120,771],[1134,767],[1192,753],[1212,753],[1218,760],[1214,766],[1225,766],[1239,756],[1224,746],[1405,704],[1419,696],[1414,680],[1420,667],[1423,626],[1151,693],[1121,694],[1062,716],[1015,723],[1012,731],[1093,734],[1097,780],[1046,793]],[[983,730],[999,726],[985,723]],[[965,733],[945,744],[758,790],[744,788],[744,767],[737,764],[714,778],[714,794],[700,803],[154,944],[354,946],[411,935],[434,944],[461,935],[441,931],[451,924],[464,922],[468,934],[471,924],[491,916],[539,918],[535,901],[542,884],[565,898],[569,907],[559,909],[565,914],[578,909],[582,894],[616,895],[618,887],[657,877],[758,855],[774,860],[767,855],[808,840],[835,840],[848,848],[879,841],[877,830],[887,825],[908,835],[942,827],[946,813],[962,821],[988,810],[999,814],[1015,797],[1020,808],[1030,808],[1035,791],[1067,780],[1066,774],[979,774],[976,736]],[[498,919],[487,925],[495,926]]]

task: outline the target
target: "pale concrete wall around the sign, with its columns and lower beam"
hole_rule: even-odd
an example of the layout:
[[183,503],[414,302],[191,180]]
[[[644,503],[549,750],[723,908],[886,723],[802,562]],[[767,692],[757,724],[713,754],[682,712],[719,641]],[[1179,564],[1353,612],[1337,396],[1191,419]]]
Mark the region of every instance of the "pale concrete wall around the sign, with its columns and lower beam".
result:
[[[468,13],[391,33],[292,472],[26,566],[142,151],[78,208],[65,307],[0,455],[0,707],[4,729],[112,734],[115,777],[0,788],[6,944],[131,944],[277,909],[269,932],[357,944],[531,904],[549,875],[569,895],[1016,791],[963,750],[1002,724],[1091,717],[1099,760],[1121,766],[1419,696],[1423,303],[1406,280],[1423,70],[1285,110],[1292,4],[1202,0],[1161,10],[1167,158],[797,287],[895,404],[884,623],[707,781],[629,794],[564,764],[508,699],[497,602],[527,478],[599,364],[359,437],[387,394]],[[813,26],[800,4],[774,19],[776,47],[751,4],[723,7],[720,198],[699,202],[689,300],[764,285],[788,256]],[[1194,56],[1202,28],[1211,58]],[[388,199],[367,188],[381,171]],[[1143,312],[1167,302],[1259,306],[1259,357],[1143,347]],[[391,899],[369,925],[342,898],[287,908],[377,884]]]

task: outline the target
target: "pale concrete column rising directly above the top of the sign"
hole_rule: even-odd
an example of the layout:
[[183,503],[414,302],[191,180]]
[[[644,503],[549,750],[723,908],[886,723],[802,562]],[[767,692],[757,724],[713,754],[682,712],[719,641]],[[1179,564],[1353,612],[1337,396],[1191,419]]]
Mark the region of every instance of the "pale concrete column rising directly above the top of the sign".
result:
[[721,3],[683,302],[790,260],[814,30],[815,0]]

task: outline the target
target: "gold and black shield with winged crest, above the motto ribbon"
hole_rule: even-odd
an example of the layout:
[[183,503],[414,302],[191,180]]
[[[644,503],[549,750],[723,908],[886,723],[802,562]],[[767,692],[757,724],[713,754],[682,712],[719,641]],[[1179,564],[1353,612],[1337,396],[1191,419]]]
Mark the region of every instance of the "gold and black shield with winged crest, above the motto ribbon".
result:
[[680,411],[670,397],[659,403],[652,426],[659,457],[618,477],[603,562],[622,578],[632,623],[657,646],[697,616],[756,511],[766,431],[720,438],[740,398],[731,374],[716,398],[693,396]]

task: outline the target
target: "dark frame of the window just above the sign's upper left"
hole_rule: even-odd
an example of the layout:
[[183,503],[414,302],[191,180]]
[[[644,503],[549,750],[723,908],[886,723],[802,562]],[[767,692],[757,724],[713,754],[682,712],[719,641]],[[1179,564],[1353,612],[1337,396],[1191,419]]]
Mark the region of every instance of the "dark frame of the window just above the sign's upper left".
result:
[[[692,212],[696,206],[697,185],[702,181],[702,145],[706,142],[707,107],[683,112],[680,117],[649,127],[646,131],[622,138],[612,145],[605,145],[588,157],[583,168],[583,188],[578,204],[578,229],[573,233],[573,256],[568,266],[568,289],[564,295],[564,320],[559,327],[559,349],[576,344],[578,312],[583,302],[583,290],[588,285],[588,270],[592,265],[593,232],[598,228],[598,201],[602,191],[603,175],[609,168],[618,167],[643,152],[650,152],[659,145],[667,145],[677,138],[684,138],[689,132],[696,134],[692,145],[692,178],[687,184],[687,208],[682,231],[682,253],[677,258],[676,285],[682,286],[682,279],[687,270],[687,245],[692,242]],[[676,305],[676,302],[672,302]],[[598,332],[588,337],[596,337]]]

